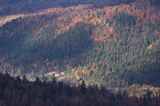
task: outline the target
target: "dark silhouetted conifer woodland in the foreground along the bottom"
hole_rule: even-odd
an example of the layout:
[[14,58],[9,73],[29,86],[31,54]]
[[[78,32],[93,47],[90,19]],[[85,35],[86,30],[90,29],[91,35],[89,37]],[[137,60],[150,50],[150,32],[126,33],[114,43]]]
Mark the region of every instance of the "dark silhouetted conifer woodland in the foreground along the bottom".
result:
[[104,87],[72,87],[63,82],[28,82],[25,77],[0,74],[0,106],[159,106],[160,94],[148,91],[142,98],[128,97],[127,92],[111,93]]

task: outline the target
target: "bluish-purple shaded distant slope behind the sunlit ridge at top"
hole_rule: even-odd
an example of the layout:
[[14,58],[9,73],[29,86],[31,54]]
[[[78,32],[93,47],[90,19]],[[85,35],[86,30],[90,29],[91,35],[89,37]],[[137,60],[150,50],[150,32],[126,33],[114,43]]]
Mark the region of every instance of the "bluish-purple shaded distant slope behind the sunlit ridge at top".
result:
[[[110,5],[118,5],[120,3],[133,2],[135,0],[110,0]],[[0,1],[0,3],[4,1]],[[84,4],[91,4],[97,8],[103,8],[107,5],[107,0],[48,0],[48,1],[35,1],[35,0],[26,0],[11,2],[7,0],[4,2],[5,7],[0,10],[0,16],[6,16],[11,14],[23,14],[23,13],[32,13],[42,9],[53,8],[53,7],[70,7],[78,6]]]

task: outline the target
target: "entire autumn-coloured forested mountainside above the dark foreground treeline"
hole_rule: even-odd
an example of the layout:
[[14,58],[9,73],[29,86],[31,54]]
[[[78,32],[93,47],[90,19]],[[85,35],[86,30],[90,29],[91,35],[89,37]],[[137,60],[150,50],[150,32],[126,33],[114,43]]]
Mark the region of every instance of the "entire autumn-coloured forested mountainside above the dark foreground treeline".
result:
[[159,0],[22,1],[0,0],[0,72],[73,85],[160,86]]

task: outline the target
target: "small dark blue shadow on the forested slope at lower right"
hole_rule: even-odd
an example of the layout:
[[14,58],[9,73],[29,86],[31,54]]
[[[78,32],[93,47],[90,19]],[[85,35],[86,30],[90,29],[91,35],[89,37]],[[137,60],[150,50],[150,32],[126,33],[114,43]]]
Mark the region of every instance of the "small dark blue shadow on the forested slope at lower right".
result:
[[137,71],[128,71],[127,82],[132,84],[145,84],[160,86],[160,63],[148,63],[139,68]]

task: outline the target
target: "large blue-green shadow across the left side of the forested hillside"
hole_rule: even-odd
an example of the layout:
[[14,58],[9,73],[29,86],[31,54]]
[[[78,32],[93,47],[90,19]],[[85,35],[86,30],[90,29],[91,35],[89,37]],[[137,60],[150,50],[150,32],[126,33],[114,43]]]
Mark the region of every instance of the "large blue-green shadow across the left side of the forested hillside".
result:
[[55,25],[39,27],[47,19],[17,19],[3,26],[0,30],[0,57],[12,64],[30,65],[47,59],[76,58],[92,46],[91,25],[78,23],[56,35]]

